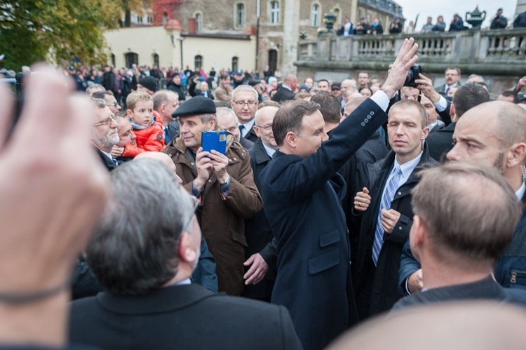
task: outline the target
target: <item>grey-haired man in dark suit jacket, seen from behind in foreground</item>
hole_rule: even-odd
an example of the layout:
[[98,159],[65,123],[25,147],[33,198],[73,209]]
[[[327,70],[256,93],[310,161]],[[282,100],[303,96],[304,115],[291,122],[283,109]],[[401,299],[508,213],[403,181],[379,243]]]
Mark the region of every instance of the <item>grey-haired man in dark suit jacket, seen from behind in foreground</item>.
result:
[[285,307],[191,283],[201,247],[199,202],[172,169],[140,159],[119,168],[111,184],[86,248],[104,292],[72,303],[72,342],[101,349],[301,349]]

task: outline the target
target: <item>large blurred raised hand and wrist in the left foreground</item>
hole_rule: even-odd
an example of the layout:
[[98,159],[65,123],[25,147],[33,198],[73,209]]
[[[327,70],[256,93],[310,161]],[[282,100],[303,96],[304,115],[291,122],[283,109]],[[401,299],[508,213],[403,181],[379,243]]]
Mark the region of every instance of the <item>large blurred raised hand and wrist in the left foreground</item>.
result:
[[[44,65],[32,72],[11,134],[13,93],[0,83],[0,346],[65,349],[72,267],[109,196],[93,136],[116,126],[105,104],[73,95],[69,77]],[[32,142],[39,147],[25,147]]]

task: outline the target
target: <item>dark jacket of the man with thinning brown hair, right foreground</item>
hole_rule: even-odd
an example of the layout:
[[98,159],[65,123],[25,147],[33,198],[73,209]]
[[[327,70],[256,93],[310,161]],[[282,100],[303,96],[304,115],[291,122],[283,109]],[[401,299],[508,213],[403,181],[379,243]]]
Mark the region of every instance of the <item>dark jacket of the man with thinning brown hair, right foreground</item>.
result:
[[481,281],[460,285],[450,285],[442,288],[433,288],[424,292],[417,292],[394,304],[391,311],[405,310],[418,305],[435,304],[438,302],[453,302],[473,299],[490,299],[511,302],[526,306],[526,291],[502,288],[488,276]]

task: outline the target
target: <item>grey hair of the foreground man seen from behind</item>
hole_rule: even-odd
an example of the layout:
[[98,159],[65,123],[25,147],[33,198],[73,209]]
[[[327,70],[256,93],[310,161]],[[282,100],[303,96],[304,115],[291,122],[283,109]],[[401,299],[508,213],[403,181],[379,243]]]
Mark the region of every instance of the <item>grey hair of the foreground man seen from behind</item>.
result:
[[177,246],[194,207],[175,173],[158,160],[128,162],[111,175],[113,195],[86,258],[104,289],[142,295],[177,273]]

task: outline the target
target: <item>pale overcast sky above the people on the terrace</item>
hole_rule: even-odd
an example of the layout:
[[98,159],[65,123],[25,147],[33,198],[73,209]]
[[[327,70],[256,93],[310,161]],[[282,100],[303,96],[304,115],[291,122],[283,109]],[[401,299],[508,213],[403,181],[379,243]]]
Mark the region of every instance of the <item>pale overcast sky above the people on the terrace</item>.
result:
[[[480,12],[486,11],[486,20],[483,23],[483,27],[489,27],[492,18],[497,13],[497,8],[504,10],[504,17],[508,18],[508,22],[513,22],[515,15],[515,6],[517,0],[395,0],[403,8],[403,15],[406,18],[405,25],[409,24],[409,21],[414,21],[414,18],[419,15],[417,22],[417,31],[422,29],[422,26],[426,24],[428,16],[433,17],[433,24],[436,23],[438,15],[443,15],[444,20],[447,23],[446,30],[449,29],[449,24],[453,19],[455,13],[459,13],[461,18],[466,21],[466,11],[473,11],[478,5]],[[469,27],[469,25],[468,25]]]

